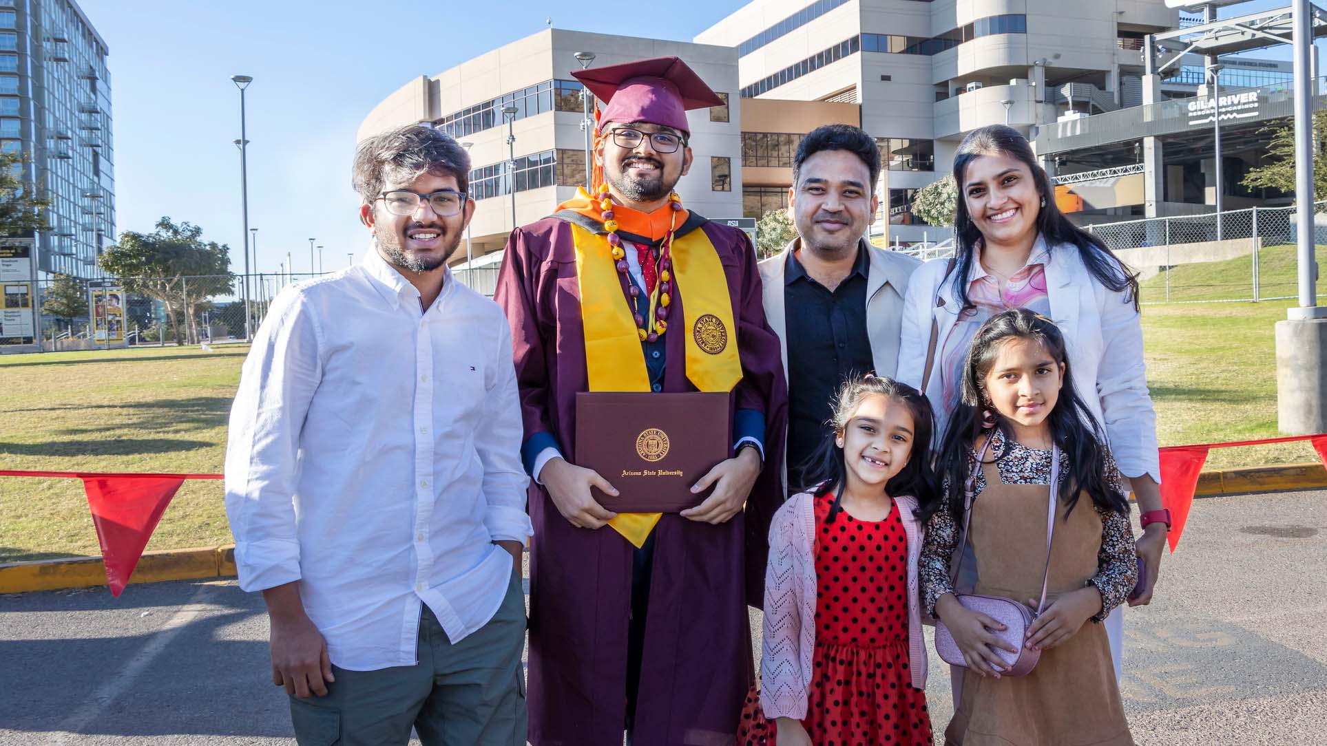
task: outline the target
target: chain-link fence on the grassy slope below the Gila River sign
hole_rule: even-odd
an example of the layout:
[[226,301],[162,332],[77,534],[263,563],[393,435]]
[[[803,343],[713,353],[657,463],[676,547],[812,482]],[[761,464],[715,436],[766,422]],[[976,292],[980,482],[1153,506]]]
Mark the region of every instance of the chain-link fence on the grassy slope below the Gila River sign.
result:
[[[1327,203],[1314,242],[1327,242]],[[1258,302],[1296,297],[1294,207],[1084,225],[1136,269],[1144,303]]]

